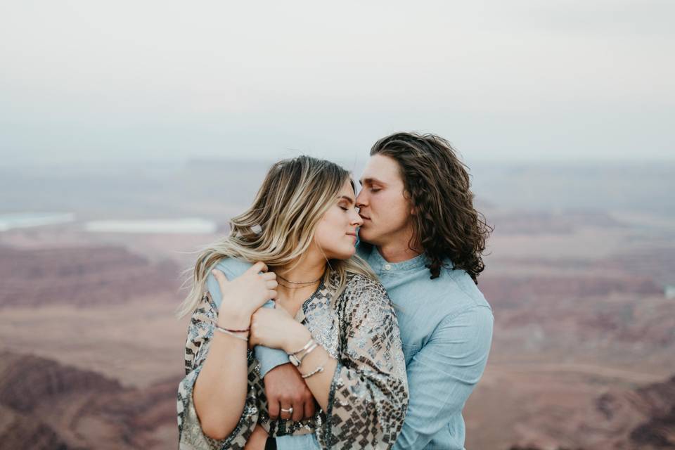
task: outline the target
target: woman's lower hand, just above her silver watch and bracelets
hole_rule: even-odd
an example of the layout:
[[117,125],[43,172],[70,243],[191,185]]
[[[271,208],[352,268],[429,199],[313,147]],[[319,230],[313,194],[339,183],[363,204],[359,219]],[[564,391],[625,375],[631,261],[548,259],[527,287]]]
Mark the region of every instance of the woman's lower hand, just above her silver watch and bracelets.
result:
[[311,333],[283,308],[260,308],[251,318],[249,342],[273,349],[295,352],[307,344]]

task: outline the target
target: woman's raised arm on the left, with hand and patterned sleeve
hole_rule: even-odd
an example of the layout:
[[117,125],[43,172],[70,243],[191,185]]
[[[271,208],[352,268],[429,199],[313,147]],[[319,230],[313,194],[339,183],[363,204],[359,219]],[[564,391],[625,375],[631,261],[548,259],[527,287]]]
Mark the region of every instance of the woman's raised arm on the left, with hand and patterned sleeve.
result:
[[[226,269],[225,266],[220,268]],[[230,330],[249,327],[252,311],[269,298],[276,297],[274,274],[259,274],[260,271],[266,271],[264,264],[255,264],[232,282],[221,272],[214,272],[218,283],[214,283],[213,276],[207,282],[214,299],[211,302],[205,297],[193,314],[188,341],[201,335],[203,343],[198,346],[192,367],[186,365],[186,371],[189,371],[179,388],[179,397],[182,397],[184,420],[192,430],[188,437],[194,436],[198,441],[231,441],[241,435],[245,443],[257,422],[255,394],[252,401],[247,397],[248,378],[252,375],[249,371],[252,355],[248,354],[247,342],[215,330],[214,322]],[[214,289],[214,285],[219,288]],[[216,309],[218,314],[214,313]],[[246,334],[238,333],[238,336]],[[181,405],[179,431],[182,439],[180,410]],[[219,445],[217,442],[211,444]]]

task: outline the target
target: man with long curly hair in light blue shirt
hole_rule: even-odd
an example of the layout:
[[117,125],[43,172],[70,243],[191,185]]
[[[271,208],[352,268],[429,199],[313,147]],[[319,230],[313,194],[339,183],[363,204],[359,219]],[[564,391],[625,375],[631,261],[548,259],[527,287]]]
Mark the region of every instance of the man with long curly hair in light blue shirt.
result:
[[[492,339],[492,311],[477,288],[491,230],[473,207],[465,165],[439,136],[380,139],[360,181],[359,256],[394,303],[406,358],[410,399],[394,449],[461,450],[462,409]],[[294,420],[309,416],[311,394],[295,367],[283,364],[288,358],[256,352],[270,416],[290,406]],[[318,448],[312,435],[301,438],[278,437],[277,448]]]

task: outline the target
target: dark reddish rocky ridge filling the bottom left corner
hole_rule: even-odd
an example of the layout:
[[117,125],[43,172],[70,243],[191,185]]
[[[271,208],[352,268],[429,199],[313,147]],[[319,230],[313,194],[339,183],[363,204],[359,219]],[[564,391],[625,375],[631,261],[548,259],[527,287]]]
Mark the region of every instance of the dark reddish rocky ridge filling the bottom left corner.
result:
[[51,359],[0,352],[2,448],[162,448],[153,433],[175,424],[178,382],[127,389]]

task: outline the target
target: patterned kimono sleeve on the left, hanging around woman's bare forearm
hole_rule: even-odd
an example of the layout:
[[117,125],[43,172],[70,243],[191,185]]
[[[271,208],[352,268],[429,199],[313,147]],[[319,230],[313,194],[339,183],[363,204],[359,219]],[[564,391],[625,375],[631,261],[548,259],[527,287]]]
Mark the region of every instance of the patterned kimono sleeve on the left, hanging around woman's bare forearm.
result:
[[[220,269],[220,267],[219,267]],[[228,275],[228,274],[226,274]],[[213,278],[212,275],[209,275]],[[210,280],[207,285],[213,285]],[[215,283],[217,285],[217,283]],[[211,295],[220,296],[220,290]],[[255,391],[248,390],[244,409],[236,428],[225,439],[211,439],[202,431],[202,427],[195,411],[193,401],[193,387],[195,380],[203,367],[209,352],[211,338],[214,332],[214,321],[217,317],[216,302],[211,295],[205,295],[195,309],[190,325],[188,326],[188,338],[185,345],[185,378],[178,388],[176,409],[178,412],[178,432],[180,449],[243,449],[248,437],[250,437],[259,416],[259,405]],[[218,299],[219,300],[219,299]],[[217,302],[219,304],[219,301]],[[253,370],[253,354],[248,351],[248,385],[255,385],[257,373]]]

